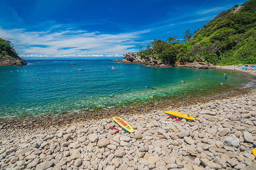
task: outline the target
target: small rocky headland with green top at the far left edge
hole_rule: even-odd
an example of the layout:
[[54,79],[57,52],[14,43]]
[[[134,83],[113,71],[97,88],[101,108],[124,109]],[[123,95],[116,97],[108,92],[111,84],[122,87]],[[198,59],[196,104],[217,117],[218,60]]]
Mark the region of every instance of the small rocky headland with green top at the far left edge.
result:
[[0,38],[0,66],[27,65],[28,63],[18,56],[11,43]]

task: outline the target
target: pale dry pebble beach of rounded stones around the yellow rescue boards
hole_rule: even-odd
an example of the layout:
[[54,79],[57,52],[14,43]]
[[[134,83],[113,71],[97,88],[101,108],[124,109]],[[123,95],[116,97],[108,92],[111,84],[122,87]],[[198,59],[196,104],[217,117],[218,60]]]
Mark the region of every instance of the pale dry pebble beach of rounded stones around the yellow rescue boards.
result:
[[[242,67],[221,66],[234,68],[256,75]],[[166,110],[196,119],[177,122]],[[256,88],[218,100],[113,113],[135,131],[126,133],[111,114],[76,121],[71,117],[65,123],[49,118],[51,123],[34,126],[36,120],[1,122],[0,170],[256,169],[251,151],[256,144]]]

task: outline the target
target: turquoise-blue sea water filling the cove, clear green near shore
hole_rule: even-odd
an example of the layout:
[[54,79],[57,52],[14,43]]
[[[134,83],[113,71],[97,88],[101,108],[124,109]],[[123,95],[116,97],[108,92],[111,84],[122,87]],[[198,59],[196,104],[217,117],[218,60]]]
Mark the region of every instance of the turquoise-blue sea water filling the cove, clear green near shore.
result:
[[[112,60],[27,62],[26,66],[0,67],[1,117],[54,115],[214,95],[252,81],[243,74],[218,69],[153,68]],[[77,70],[81,68],[84,70]],[[231,78],[225,79],[223,73]]]

